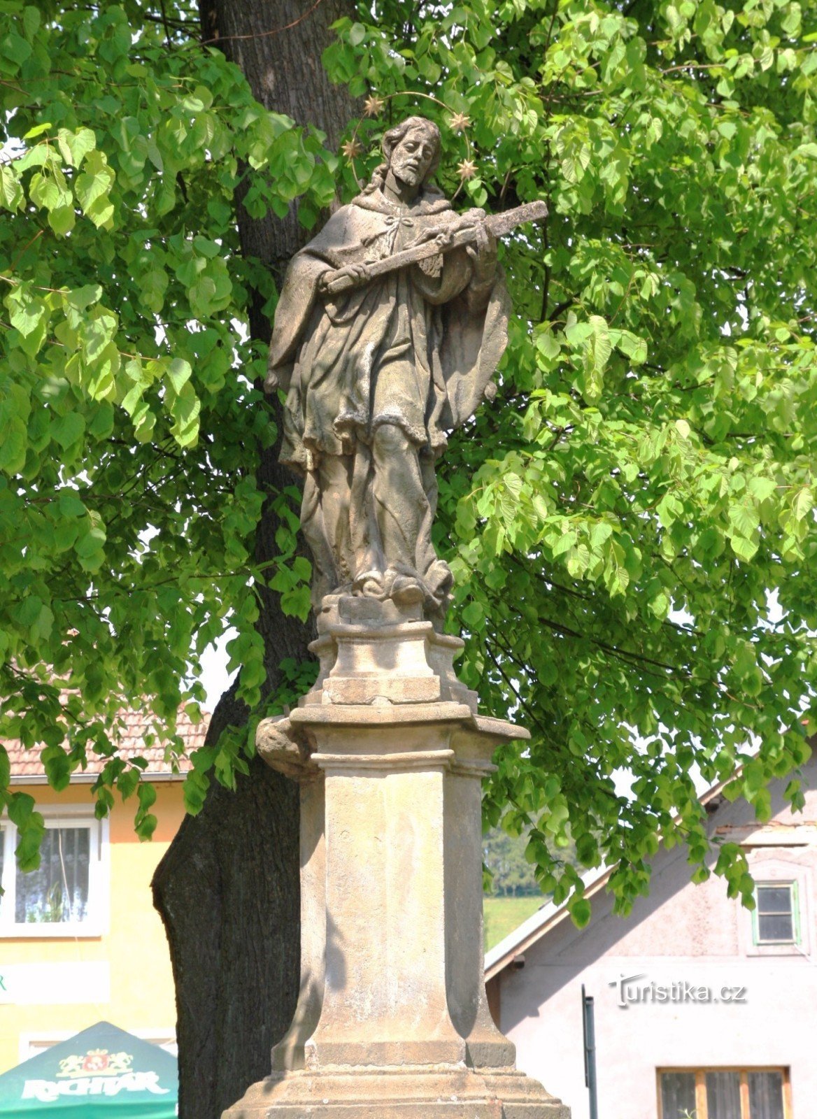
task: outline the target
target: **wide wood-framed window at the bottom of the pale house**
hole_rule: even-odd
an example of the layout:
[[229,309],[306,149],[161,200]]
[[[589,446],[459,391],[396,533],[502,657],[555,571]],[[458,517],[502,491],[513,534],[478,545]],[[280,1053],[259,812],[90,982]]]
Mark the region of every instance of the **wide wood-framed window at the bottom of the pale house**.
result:
[[787,1069],[663,1069],[659,1119],[792,1119]]

